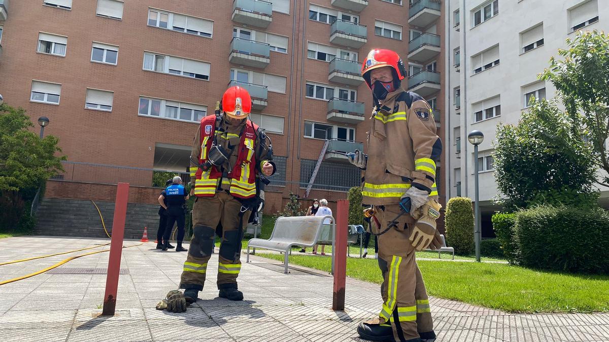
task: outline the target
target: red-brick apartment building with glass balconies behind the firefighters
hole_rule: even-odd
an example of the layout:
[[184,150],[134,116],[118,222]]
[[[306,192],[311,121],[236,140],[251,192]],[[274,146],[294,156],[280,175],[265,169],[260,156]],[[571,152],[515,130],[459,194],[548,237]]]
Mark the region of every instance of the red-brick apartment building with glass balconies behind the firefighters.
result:
[[370,49],[397,51],[409,63],[404,88],[432,108],[445,106],[441,7],[439,0],[0,0],[0,94],[33,122],[48,117],[44,133],[58,136],[68,156],[46,197],[111,201],[113,184],[124,181],[130,201],[156,203],[152,170],[185,173],[200,118],[238,83],[252,94],[252,119],[272,139],[279,167],[267,208],[281,209],[290,191],[305,197],[318,159],[308,198],[333,201],[359,185],[360,173],[343,156],[320,153],[326,139],[333,139],[327,151],[362,149],[371,95],[359,71]]

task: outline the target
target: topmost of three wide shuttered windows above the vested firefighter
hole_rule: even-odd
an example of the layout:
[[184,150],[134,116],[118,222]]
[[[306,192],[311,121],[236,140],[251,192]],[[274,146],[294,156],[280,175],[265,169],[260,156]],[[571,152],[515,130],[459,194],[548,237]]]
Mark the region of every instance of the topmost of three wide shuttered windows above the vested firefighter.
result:
[[213,21],[157,9],[148,10],[148,25],[208,38],[214,30]]

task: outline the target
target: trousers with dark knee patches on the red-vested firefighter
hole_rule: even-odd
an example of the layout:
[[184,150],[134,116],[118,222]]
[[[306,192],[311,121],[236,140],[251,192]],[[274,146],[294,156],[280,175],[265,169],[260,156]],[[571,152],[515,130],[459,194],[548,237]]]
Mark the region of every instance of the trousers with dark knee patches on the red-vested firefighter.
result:
[[[237,288],[241,270],[241,239],[250,211],[225,191],[214,197],[199,197],[192,208],[192,240],[184,263],[180,288],[203,290],[207,263],[213,249],[216,227],[222,226],[218,265],[218,288]],[[241,225],[241,226],[240,226]]]

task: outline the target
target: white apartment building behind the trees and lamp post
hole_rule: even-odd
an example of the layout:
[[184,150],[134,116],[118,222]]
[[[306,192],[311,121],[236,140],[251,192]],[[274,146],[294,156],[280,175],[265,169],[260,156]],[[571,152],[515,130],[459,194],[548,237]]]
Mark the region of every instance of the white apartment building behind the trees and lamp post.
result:
[[[531,95],[551,99],[555,88],[537,79],[577,30],[609,30],[609,0],[446,0],[446,198],[474,198],[472,130],[479,145],[483,236],[499,208],[493,142],[499,122],[515,124]],[[609,195],[609,194],[604,194]]]

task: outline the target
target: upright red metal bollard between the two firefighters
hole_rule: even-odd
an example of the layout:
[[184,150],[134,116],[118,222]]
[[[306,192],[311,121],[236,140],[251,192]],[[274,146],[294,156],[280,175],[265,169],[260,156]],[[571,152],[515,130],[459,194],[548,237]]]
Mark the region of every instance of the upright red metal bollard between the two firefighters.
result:
[[334,246],[334,295],[332,310],[345,310],[345,277],[347,277],[347,223],[349,201],[338,200],[336,209],[336,236]]

